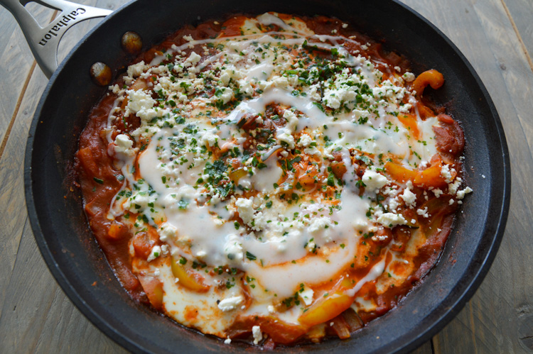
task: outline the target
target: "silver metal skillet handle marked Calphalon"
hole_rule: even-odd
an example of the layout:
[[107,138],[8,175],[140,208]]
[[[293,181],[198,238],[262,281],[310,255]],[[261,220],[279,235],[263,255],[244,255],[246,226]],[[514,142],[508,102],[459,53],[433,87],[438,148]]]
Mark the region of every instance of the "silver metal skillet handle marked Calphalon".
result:
[[[52,23],[43,28],[24,7],[31,1],[50,9],[59,10],[61,13]],[[105,17],[113,12],[65,0],[0,0],[0,5],[15,16],[33,56],[48,78],[58,68],[58,46],[68,28],[78,22],[90,18]]]

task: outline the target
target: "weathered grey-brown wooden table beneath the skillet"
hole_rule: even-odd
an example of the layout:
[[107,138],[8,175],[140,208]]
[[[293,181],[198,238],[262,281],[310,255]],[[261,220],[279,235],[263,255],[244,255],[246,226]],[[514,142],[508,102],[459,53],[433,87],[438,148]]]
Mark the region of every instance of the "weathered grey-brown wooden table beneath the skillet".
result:
[[[415,353],[527,353],[533,350],[533,1],[402,1],[446,33],[480,74],[505,128],[513,185],[505,238],[490,272],[456,319]],[[79,2],[116,9],[126,1]],[[28,7],[40,23],[54,14]],[[62,58],[94,21],[67,33]],[[48,80],[4,9],[0,62],[0,353],[124,352],[65,297],[33,240],[24,146]]]

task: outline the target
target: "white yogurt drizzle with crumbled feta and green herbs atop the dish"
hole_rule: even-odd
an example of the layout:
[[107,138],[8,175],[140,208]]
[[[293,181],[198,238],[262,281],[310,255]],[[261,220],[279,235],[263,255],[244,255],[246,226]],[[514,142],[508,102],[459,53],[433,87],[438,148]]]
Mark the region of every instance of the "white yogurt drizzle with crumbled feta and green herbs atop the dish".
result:
[[[193,52],[176,62],[173,72],[176,68],[188,70],[191,77],[177,82],[165,78],[169,72],[167,66],[158,66],[164,56],[154,58],[149,65],[141,62],[130,67],[131,82],[135,77],[143,79],[154,72],[161,75],[151,89],[165,97],[165,106],[158,107],[158,102],[149,95],[142,96],[142,92],[125,92],[115,87],[121,96],[116,106],[129,94],[126,114],[141,118],[141,127],[131,137],[138,146],[141,141],[149,143],[140,153],[139,148],[130,148],[133,153],[115,154],[122,161],[122,173],[126,178],[109,214],[117,217],[128,211],[144,213],[145,223],[136,221],[135,227],[141,229],[147,222],[158,228],[171,255],[198,259],[209,267],[230,265],[246,272],[262,289],[268,290],[268,294],[263,294],[262,299],[247,310],[253,312],[266,311],[263,305],[274,301],[274,295],[278,299],[291,297],[302,283],[306,286],[321,284],[338,275],[353,261],[362,233],[374,227],[375,216],[368,213],[377,207],[376,191],[369,190],[360,197],[359,188],[354,187],[359,177],[352,172],[357,166],[352,164],[350,151],[375,156],[372,164],[376,166],[382,167],[383,162],[377,159],[380,154],[394,155],[405,165],[416,166],[436,153],[431,126],[437,121],[436,118],[419,120],[420,137],[412,138],[411,132],[397,118],[402,99],[410,96],[399,75],[383,81],[382,73],[365,57],[352,56],[342,46],[325,43],[355,40],[317,36],[303,23],[289,26],[270,13],[248,21],[264,26],[275,24],[286,32],[244,33],[232,38],[190,40],[185,45],[173,46],[169,53],[183,55],[183,50],[195,45],[224,45],[224,49],[203,61]],[[284,37],[280,38],[280,34]],[[321,41],[313,43],[318,48],[338,48],[339,61],[345,65],[344,70],[328,81],[329,87],[318,87],[318,83],[302,86],[298,74],[287,74],[298,72],[291,69],[294,63],[289,55],[272,50],[301,46],[310,38]],[[255,54],[257,48],[262,48],[264,53],[260,60]],[[239,52],[240,55],[235,54]],[[215,96],[190,96],[203,85],[195,81],[195,74],[209,67],[218,70]],[[310,72],[312,75],[313,70]],[[362,94],[355,91],[354,82],[356,87],[367,87],[366,91]],[[244,92],[242,101],[227,114],[208,116],[206,112],[213,110],[211,106],[220,102],[227,104],[233,99],[235,89],[229,88],[232,83],[239,92]],[[192,87],[190,91],[189,87]],[[298,94],[295,89],[299,89]],[[318,89],[322,95],[317,93]],[[345,111],[339,109],[343,104],[355,102],[356,97],[371,108],[352,105]],[[177,102],[168,104],[170,101]],[[173,111],[176,104],[186,107],[176,114]],[[284,111],[286,125],[276,126],[275,142],[269,145],[274,153],[263,155],[264,166],[261,169],[254,166],[252,157],[249,159],[252,162],[244,162],[248,173],[233,181],[235,191],[229,198],[222,196],[215,187],[202,184],[212,178],[206,171],[212,170],[217,161],[210,155],[210,149],[232,149],[242,155],[247,136],[239,123],[249,116],[264,117],[269,104],[287,107]],[[327,113],[324,107],[335,109],[335,114]],[[200,112],[202,114],[198,115]],[[111,115],[110,128],[112,124]],[[120,150],[117,140],[110,134],[107,136],[109,143]],[[340,191],[338,204],[332,204],[325,196],[311,198],[314,189],[298,192],[299,199],[294,204],[279,199],[280,194],[288,190],[283,184],[278,185],[284,173],[281,164],[287,151],[294,148],[316,157],[321,165],[317,168],[325,175],[333,153],[340,154],[348,172],[343,177],[344,186],[333,182]],[[127,151],[127,147],[122,150]],[[136,153],[139,153],[140,179],[132,172]],[[227,172],[220,175],[223,179],[229,178]],[[198,181],[203,182],[199,184]],[[320,182],[325,184],[325,180]],[[257,194],[244,197],[249,190],[256,190]],[[235,221],[237,214],[244,224]],[[311,245],[328,250],[328,254],[313,254]],[[377,279],[385,267],[385,258],[382,258],[348,290],[348,294],[354,296],[365,282]],[[229,296],[230,292],[227,293]],[[171,296],[171,290],[166,296]],[[284,316],[289,316],[286,320],[297,322],[295,311]]]

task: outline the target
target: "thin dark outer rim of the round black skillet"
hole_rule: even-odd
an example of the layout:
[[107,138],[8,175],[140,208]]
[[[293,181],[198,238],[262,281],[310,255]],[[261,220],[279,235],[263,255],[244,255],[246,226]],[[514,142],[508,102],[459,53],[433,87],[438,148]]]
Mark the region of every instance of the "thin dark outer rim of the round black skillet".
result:
[[[442,33],[442,31],[440,31],[426,18],[411,9],[409,6],[402,4],[398,0],[390,0],[390,2],[401,6],[402,8],[416,16],[419,21],[422,21],[426,24],[426,26],[429,26],[436,33],[436,35],[438,35],[442,40],[446,42],[449,48],[458,56],[458,59],[461,60],[462,64],[465,65],[465,67],[468,69],[468,72],[478,85],[478,89],[480,89],[480,92],[483,94],[483,99],[485,99],[486,104],[488,105],[488,111],[490,111],[490,113],[492,114],[492,117],[490,117],[490,121],[493,124],[493,128],[495,128],[495,130],[497,131],[497,138],[500,142],[501,148],[501,151],[500,149],[498,149],[498,152],[502,153],[502,167],[504,169],[504,173],[502,174],[502,179],[504,181],[504,183],[502,184],[502,204],[501,208],[498,210],[497,213],[497,222],[494,222],[495,231],[491,238],[490,245],[485,250],[485,257],[483,259],[483,262],[480,263],[476,272],[468,275],[469,284],[462,290],[462,292],[460,292],[459,294],[448,295],[448,297],[453,297],[455,299],[455,301],[453,301],[453,304],[449,306],[448,310],[446,310],[440,317],[438,317],[438,319],[433,319],[431,321],[431,326],[427,326],[424,330],[419,331],[419,333],[415,334],[414,336],[408,336],[410,334],[409,332],[404,333],[404,336],[402,338],[409,337],[407,338],[407,343],[404,343],[404,345],[400,346],[399,348],[392,348],[391,351],[391,353],[407,353],[409,350],[414,350],[415,348],[417,348],[419,345],[431,338],[431,336],[434,336],[434,334],[440,331],[444,326],[446,326],[446,324],[451,321],[451,319],[453,319],[453,317],[456,316],[456,314],[458,314],[461,309],[463,309],[465,303],[470,300],[470,298],[475,293],[475,290],[477,290],[480,286],[480,283],[483,282],[485,275],[487,275],[488,270],[490,269],[490,265],[492,265],[492,262],[495,259],[497,249],[500,246],[505,231],[505,223],[507,221],[510,205],[511,170],[510,156],[507,147],[507,142],[505,139],[505,132],[503,131],[500,117],[497,114],[497,109],[495,108],[495,105],[492,102],[492,99],[490,98],[490,95],[488,94],[485,85],[481,81],[477,72],[475,72],[475,70],[473,69],[472,65],[470,65],[470,62],[468,62],[462,52],[458,50],[456,45],[454,45],[453,42],[444,33]],[[66,63],[68,62],[70,57],[72,57],[73,53],[80,47],[80,45],[82,45],[82,43],[87,40],[87,38],[92,35],[92,33],[97,31],[97,29],[102,26],[103,23],[106,23],[107,21],[112,21],[114,16],[117,15],[117,13],[123,11],[125,8],[131,6],[132,4],[134,4],[134,1],[131,1],[128,4],[124,4],[119,9],[114,11],[111,15],[107,16],[107,18],[104,18],[104,20],[97,24],[95,28],[92,28],[92,30],[87,33],[87,35],[85,35],[82,40],[80,40],[77,45],[75,45],[74,48],[72,48],[67,57],[65,57],[65,60],[63,60],[63,62],[59,65],[58,70],[56,70],[53,73],[53,76],[50,78],[50,81],[48,82],[45,91],[43,92],[43,96],[41,96],[41,99],[38,103],[36,113],[33,117],[31,128],[28,133],[24,162],[24,186],[26,191],[28,217],[31,221],[31,227],[33,230],[34,238],[36,239],[36,243],[38,244],[38,248],[41,251],[41,255],[43,255],[48,269],[50,270],[50,272],[52,272],[56,282],[60,284],[60,287],[63,289],[63,292],[68,295],[69,299],[77,306],[78,309],[80,309],[82,314],[84,314],[87,319],[89,319],[93,324],[95,324],[95,326],[97,326],[97,328],[99,328],[100,331],[104,332],[109,338],[112,338],[114,341],[119,343],[119,345],[122,345],[124,348],[132,351],[149,352],[148,348],[135,341],[132,341],[130,337],[126,337],[124,333],[117,331],[117,329],[113,328],[109,321],[103,319],[102,316],[99,316],[97,311],[95,311],[95,309],[93,309],[90,304],[87,304],[87,302],[85,302],[85,300],[80,296],[80,294],[77,293],[77,291],[75,290],[75,286],[72,284],[72,282],[70,282],[63,270],[61,270],[59,263],[56,262],[53,255],[53,250],[49,248],[48,243],[45,240],[45,236],[43,235],[43,232],[41,230],[41,224],[38,219],[38,211],[34,203],[32,189],[32,157],[34,138],[38,129],[38,123],[40,121],[43,106],[48,97],[48,93],[54,87],[55,80],[57,79],[58,74],[61,72],[61,70],[63,70],[63,67],[65,67]],[[441,262],[441,260],[438,260],[438,262]],[[460,279],[462,279],[462,277]],[[384,347],[383,349],[385,348],[391,349],[388,347]]]

